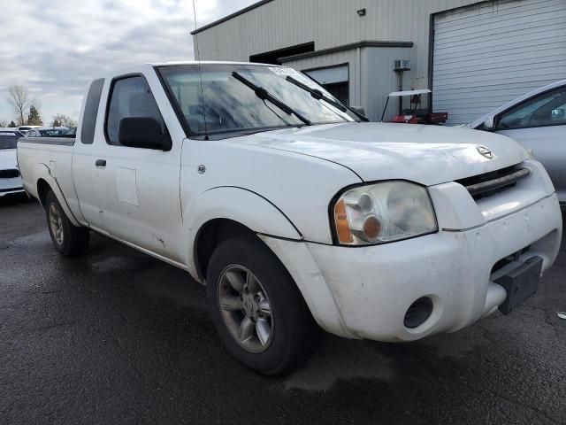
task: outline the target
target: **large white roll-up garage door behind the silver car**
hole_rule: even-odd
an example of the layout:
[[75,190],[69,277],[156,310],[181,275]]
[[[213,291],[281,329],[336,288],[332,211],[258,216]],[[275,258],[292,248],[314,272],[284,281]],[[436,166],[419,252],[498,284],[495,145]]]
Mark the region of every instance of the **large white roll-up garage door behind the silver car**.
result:
[[566,0],[501,0],[434,16],[433,108],[463,124],[566,79]]

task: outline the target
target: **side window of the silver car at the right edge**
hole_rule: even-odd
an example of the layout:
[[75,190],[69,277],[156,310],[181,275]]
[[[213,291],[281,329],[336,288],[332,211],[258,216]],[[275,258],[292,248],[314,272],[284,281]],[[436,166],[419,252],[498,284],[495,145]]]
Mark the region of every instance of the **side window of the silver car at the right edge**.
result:
[[501,114],[496,130],[566,125],[566,88],[547,91]]

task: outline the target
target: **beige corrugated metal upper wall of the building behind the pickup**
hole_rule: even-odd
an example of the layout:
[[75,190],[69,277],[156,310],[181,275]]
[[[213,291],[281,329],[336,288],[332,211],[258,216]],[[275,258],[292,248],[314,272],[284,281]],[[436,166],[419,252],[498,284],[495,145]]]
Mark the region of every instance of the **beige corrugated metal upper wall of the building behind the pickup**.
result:
[[[198,33],[203,60],[249,56],[315,42],[325,49],[362,40],[414,42],[413,88],[428,87],[430,15],[478,0],[273,0]],[[366,9],[360,18],[356,10]]]

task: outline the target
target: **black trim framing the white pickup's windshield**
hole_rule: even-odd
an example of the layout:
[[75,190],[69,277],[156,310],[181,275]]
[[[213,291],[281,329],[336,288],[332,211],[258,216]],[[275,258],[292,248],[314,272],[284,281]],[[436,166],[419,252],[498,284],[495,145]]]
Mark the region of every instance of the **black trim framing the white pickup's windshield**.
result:
[[[177,120],[179,121],[180,126],[183,129],[183,132],[185,133],[185,136],[187,138],[194,139],[194,140],[209,140],[209,138],[211,137],[211,138],[214,138],[214,140],[221,140],[223,138],[227,139],[227,138],[232,138],[232,137],[238,137],[240,135],[251,135],[251,134],[256,134],[256,133],[262,133],[264,131],[279,130],[279,129],[282,129],[282,128],[307,127],[306,123],[300,122],[300,123],[296,123],[296,124],[287,124],[287,125],[283,125],[283,126],[234,128],[234,129],[231,129],[231,130],[217,130],[217,131],[208,130],[207,132],[202,132],[202,133],[195,132],[188,125],[188,122],[185,119],[185,115],[183,114],[182,110],[180,109],[180,104],[177,101],[177,97],[175,97],[174,93],[172,92],[171,86],[167,83],[167,81],[165,81],[164,75],[163,75],[163,73],[161,73],[161,70],[164,69],[164,68],[179,67],[179,66],[191,66],[191,65],[192,64],[172,64],[172,65],[152,66],[155,73],[157,74],[157,79],[161,83],[161,86],[164,89],[165,95],[167,96],[167,99],[169,100],[169,104],[171,104],[172,110],[173,110],[173,112],[175,112]],[[266,67],[266,66],[269,67],[270,66],[270,65],[266,65],[266,64],[240,64],[240,65],[263,66],[263,67]],[[280,67],[287,67],[287,66],[280,66]],[[307,75],[307,77],[308,77],[308,75]],[[291,82],[289,82],[289,83],[292,84]],[[346,107],[348,108],[348,106],[346,106]],[[356,112],[351,111],[350,108],[348,108],[348,111],[354,113],[356,115],[356,118],[359,118],[358,114]],[[310,122],[310,125],[311,126],[320,126],[320,125],[329,125],[329,124],[345,124],[345,123],[352,123],[352,122],[359,123],[359,122],[362,122],[362,120],[318,121],[318,122]],[[226,137],[218,137],[219,135],[226,135]]]

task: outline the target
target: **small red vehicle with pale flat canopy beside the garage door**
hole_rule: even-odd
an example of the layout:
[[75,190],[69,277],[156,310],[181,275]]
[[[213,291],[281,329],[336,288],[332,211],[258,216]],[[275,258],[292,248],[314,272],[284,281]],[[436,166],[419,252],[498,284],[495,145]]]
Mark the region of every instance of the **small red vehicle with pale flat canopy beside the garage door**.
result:
[[[442,125],[448,120],[448,112],[431,112],[428,108],[422,108],[422,97],[430,96],[429,89],[394,91],[390,93],[386,100],[386,105],[381,114],[383,122],[386,116],[387,105],[392,97],[399,97],[399,114],[395,115],[388,122],[398,122],[402,124],[429,124]],[[409,109],[402,109],[402,98],[409,97]]]

